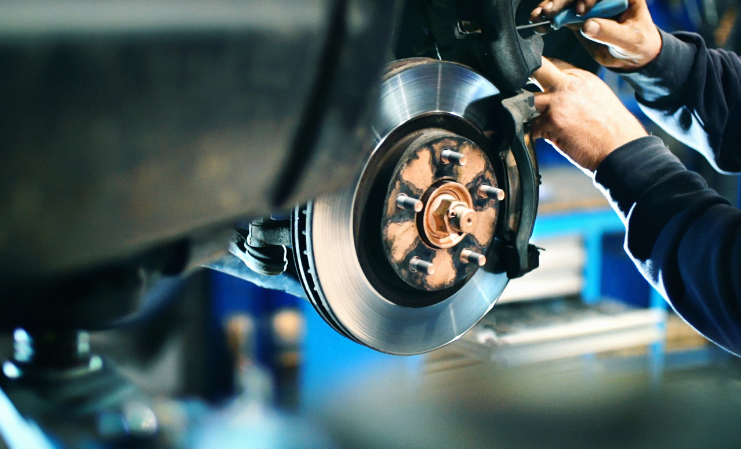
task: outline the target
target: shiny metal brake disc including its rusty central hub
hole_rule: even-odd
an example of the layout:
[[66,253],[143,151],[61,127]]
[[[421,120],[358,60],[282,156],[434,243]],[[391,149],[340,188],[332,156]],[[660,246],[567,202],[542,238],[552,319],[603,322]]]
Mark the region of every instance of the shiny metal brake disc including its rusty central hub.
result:
[[517,164],[492,126],[499,105],[499,90],[465,66],[389,68],[357,181],[294,213],[299,277],[335,330],[417,354],[494,305],[508,278],[493,241],[516,229],[521,209]]

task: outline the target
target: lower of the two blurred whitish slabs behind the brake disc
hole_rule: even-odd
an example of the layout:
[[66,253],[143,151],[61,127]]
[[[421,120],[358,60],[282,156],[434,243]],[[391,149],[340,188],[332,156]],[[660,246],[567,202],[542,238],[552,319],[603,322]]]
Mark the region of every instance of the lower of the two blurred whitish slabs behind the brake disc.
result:
[[635,309],[612,301],[508,305],[495,308],[440,354],[432,353],[428,368],[484,361],[514,366],[649,345],[665,338],[665,319],[663,310]]

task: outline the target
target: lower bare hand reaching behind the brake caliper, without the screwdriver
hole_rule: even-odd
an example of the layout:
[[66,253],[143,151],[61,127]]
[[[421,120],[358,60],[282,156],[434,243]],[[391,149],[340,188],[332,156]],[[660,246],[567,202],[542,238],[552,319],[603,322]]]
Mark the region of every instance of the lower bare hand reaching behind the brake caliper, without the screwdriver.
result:
[[545,89],[535,94],[540,116],[531,128],[573,163],[594,172],[618,147],[648,135],[643,125],[595,75],[563,61],[543,58],[533,77]]

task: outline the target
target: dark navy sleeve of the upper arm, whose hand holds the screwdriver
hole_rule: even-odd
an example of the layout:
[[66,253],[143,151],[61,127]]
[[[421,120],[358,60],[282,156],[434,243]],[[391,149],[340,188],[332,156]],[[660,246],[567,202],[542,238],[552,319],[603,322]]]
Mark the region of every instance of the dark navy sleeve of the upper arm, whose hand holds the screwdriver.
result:
[[621,73],[646,115],[719,171],[741,171],[741,60],[693,33],[661,31],[659,56]]

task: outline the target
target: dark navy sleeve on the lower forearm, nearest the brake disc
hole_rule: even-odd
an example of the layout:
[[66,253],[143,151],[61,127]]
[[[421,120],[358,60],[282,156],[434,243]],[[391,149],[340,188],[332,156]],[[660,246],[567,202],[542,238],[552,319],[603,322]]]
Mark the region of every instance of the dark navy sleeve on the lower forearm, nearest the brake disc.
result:
[[595,183],[626,223],[625,249],[676,312],[741,354],[741,211],[658,137],[611,153]]

